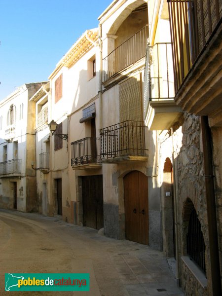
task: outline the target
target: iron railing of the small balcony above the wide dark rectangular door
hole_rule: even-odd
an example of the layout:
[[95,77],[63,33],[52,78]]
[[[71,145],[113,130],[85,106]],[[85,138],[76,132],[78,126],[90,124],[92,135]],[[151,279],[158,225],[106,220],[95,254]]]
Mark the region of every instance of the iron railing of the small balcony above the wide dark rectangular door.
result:
[[71,143],[71,165],[101,162],[100,138],[86,137]]

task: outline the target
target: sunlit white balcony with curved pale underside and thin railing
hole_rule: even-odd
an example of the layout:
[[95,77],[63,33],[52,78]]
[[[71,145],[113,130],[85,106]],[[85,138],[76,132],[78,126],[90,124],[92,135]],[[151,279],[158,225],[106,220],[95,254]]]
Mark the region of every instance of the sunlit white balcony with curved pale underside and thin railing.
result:
[[145,67],[145,122],[149,130],[168,130],[182,109],[174,102],[172,44],[148,46]]

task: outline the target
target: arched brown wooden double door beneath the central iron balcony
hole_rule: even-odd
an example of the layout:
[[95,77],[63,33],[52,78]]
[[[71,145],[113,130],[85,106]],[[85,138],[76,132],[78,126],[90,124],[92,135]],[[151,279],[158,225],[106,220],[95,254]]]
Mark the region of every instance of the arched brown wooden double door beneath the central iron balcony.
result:
[[123,182],[126,239],[148,245],[148,178],[133,171]]

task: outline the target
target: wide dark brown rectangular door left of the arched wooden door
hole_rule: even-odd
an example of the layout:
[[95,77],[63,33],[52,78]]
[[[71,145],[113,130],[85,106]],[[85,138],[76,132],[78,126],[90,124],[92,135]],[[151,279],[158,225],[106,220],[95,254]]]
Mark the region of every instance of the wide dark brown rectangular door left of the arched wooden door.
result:
[[103,176],[82,177],[83,225],[103,227]]

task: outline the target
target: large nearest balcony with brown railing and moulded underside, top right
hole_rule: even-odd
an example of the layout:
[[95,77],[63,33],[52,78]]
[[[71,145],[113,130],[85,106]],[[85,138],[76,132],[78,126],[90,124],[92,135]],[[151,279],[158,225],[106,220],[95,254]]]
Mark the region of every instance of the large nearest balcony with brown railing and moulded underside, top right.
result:
[[175,102],[222,126],[222,1],[168,0]]

